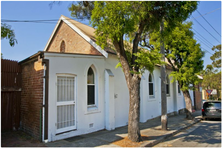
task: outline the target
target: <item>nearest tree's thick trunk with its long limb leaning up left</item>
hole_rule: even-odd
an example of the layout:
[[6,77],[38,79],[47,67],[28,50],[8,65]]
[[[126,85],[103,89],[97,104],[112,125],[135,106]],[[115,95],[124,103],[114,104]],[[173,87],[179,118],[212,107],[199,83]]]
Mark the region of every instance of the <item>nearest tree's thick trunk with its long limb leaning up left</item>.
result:
[[133,142],[141,141],[139,118],[140,118],[140,81],[138,74],[130,73],[130,66],[126,58],[126,54],[122,42],[114,42],[117,56],[121,62],[125,75],[127,87],[129,89],[130,106],[128,119],[128,138]]

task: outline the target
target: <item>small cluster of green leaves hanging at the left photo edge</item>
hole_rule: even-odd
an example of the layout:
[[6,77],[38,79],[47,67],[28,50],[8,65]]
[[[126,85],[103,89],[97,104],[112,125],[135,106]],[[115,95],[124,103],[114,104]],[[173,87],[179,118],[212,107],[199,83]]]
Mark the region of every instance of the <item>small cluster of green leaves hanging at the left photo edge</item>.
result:
[[15,39],[15,33],[11,30],[11,26],[5,23],[1,23],[1,39],[9,39],[10,46],[14,46],[15,43],[18,44]]

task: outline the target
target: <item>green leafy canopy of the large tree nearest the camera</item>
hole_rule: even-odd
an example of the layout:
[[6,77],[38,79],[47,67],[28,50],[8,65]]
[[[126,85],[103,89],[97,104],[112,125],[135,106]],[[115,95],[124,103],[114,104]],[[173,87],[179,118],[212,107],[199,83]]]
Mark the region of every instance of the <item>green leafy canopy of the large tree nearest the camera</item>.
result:
[[142,72],[141,69],[146,68],[152,72],[155,64],[162,64],[161,56],[157,50],[146,52],[138,48],[143,36],[149,35],[151,30],[159,30],[162,18],[170,22],[169,28],[173,28],[175,22],[185,20],[196,6],[197,2],[100,1],[94,3],[91,23],[97,29],[97,44],[102,48],[114,42],[125,46],[125,38],[133,44],[131,49],[124,48],[130,67]]

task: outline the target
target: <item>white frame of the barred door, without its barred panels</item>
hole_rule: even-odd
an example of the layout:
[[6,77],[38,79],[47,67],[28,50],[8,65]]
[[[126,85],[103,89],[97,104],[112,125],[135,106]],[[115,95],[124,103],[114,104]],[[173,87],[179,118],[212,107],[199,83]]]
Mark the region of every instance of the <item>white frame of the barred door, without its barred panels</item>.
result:
[[[58,102],[57,101],[57,97],[58,97],[58,77],[72,77],[74,78],[74,100],[72,101],[63,101],[63,102]],[[71,131],[71,130],[75,130],[77,129],[77,105],[76,105],[76,98],[77,98],[77,76],[75,74],[56,74],[56,134],[58,133],[62,133],[62,132],[66,132],[66,131]],[[58,106],[63,106],[63,105],[72,105],[74,104],[74,120],[75,120],[75,125],[74,126],[69,126],[69,127],[64,127],[64,128],[60,128],[57,129],[57,107]]]

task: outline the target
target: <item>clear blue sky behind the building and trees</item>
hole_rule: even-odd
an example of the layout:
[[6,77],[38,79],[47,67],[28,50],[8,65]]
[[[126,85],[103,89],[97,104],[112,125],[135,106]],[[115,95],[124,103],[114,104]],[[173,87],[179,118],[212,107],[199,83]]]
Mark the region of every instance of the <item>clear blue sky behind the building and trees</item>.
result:
[[[61,15],[71,17],[68,11],[68,6],[71,4],[71,1],[63,1],[60,5],[53,5],[52,8],[49,6],[50,3],[49,1],[1,1],[1,19],[58,20]],[[221,1],[200,1],[197,11],[199,11],[221,35]],[[210,53],[213,53],[211,48],[213,45],[221,43],[221,36],[214,31],[197,11],[195,11],[188,20],[193,22],[194,33],[196,34],[195,39],[201,44],[202,50],[208,51],[206,51],[205,57],[203,58],[204,65],[206,66],[207,64],[211,64]],[[195,21],[193,17],[196,18],[197,21]],[[15,31],[18,44],[11,47],[8,40],[1,40],[1,53],[3,53],[3,58],[21,61],[38,51],[44,50],[56,23],[57,21],[50,23],[7,23],[11,25]]]

